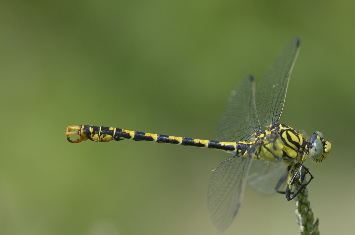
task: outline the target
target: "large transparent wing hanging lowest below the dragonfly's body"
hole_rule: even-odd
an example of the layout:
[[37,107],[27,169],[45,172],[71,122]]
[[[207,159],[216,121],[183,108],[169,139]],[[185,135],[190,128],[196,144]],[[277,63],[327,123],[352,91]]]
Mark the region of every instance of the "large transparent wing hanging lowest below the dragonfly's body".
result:
[[248,172],[257,146],[245,157],[235,155],[213,171],[208,186],[208,211],[215,227],[223,231],[232,222],[242,203]]

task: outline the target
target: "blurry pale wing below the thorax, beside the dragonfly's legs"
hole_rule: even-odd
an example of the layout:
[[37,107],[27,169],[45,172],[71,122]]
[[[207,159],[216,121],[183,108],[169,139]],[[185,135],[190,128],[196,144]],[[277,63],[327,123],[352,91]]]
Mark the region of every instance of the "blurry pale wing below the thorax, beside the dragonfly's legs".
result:
[[253,160],[248,174],[248,185],[260,195],[274,195],[276,193],[275,187],[286,173],[287,166],[281,161]]

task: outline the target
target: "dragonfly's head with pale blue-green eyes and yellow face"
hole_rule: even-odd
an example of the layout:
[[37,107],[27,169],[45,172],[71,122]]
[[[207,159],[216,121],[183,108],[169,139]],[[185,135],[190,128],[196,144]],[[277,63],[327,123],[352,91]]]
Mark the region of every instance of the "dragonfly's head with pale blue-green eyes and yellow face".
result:
[[316,131],[311,138],[310,157],[313,162],[323,162],[327,158],[327,154],[331,150],[332,144],[324,140],[323,133]]

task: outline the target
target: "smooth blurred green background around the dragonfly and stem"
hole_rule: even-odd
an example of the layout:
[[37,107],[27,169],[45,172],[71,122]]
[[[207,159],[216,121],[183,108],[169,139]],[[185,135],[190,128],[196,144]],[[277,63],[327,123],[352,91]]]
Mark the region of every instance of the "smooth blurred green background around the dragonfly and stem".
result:
[[[211,170],[230,155],[149,142],[71,144],[69,125],[213,139],[230,92],[301,37],[280,122],[322,131],[307,161],[323,234],[353,234],[352,1],[1,1],[0,233],[220,234]],[[298,234],[294,201],[246,188],[224,234]]]

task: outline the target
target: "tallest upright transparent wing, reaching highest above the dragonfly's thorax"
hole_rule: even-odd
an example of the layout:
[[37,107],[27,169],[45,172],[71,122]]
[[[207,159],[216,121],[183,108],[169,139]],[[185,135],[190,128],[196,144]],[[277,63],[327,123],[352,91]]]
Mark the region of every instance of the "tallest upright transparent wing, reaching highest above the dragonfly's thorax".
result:
[[261,126],[269,126],[280,118],[299,48],[300,38],[291,40],[256,89],[256,111]]

